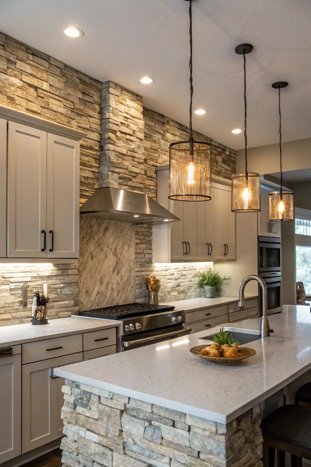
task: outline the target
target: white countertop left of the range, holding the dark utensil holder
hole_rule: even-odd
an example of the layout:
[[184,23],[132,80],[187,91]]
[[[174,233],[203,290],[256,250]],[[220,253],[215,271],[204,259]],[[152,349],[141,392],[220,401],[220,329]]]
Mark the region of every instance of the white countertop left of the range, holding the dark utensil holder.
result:
[[0,327],[0,347],[14,346],[24,342],[87,333],[108,327],[117,327],[119,321],[93,318],[56,318],[45,325],[31,323]]

